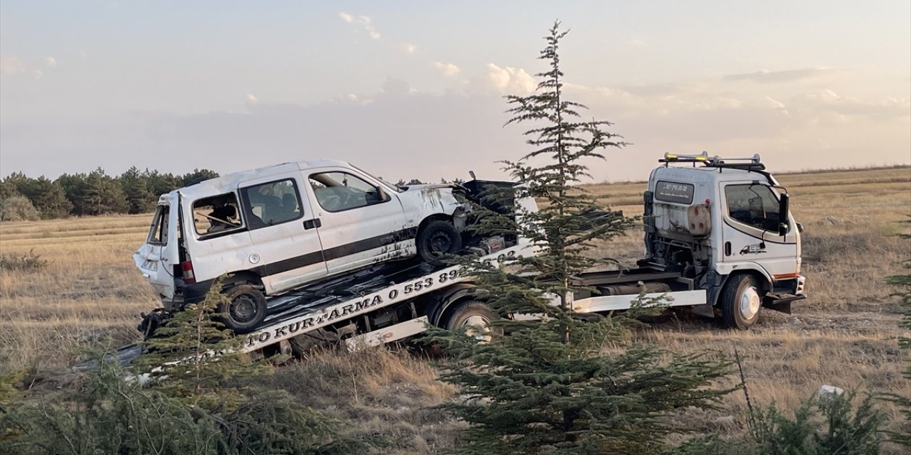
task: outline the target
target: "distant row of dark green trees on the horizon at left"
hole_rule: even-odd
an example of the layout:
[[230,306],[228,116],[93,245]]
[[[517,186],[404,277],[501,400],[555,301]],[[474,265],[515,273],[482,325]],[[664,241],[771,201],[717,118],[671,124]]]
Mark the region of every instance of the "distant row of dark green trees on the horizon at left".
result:
[[88,174],[64,174],[56,180],[14,172],[0,181],[0,221],[146,213],[155,208],[160,195],[214,177],[219,173],[209,169],[176,176],[136,167],[118,177],[108,176],[98,167]]

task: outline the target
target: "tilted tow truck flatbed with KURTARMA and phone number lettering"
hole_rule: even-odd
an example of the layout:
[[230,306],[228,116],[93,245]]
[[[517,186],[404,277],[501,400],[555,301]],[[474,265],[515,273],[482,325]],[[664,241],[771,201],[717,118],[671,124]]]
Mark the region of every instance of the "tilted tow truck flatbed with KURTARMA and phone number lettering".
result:
[[[530,247],[517,245],[496,251],[481,260],[502,262],[505,258],[520,254]],[[311,286],[272,298],[269,301],[270,315],[259,329],[244,337],[242,350],[249,353],[292,352],[290,340],[311,334],[334,324],[357,319],[360,328],[357,334],[344,339],[347,348],[358,349],[414,336],[423,332],[434,315],[425,306],[415,306],[418,298],[444,291],[457,284],[466,284],[471,277],[464,273],[464,266],[434,268],[428,264],[402,267],[402,264],[387,263],[373,268],[364,268],[344,277],[326,280]],[[574,278],[577,286],[599,288],[611,285],[637,286],[640,282],[674,282],[682,290],[650,292],[647,298],[666,296],[669,307],[697,306],[706,303],[706,291],[693,289],[691,280],[680,278],[676,272],[656,272],[638,268],[623,272],[591,272]],[[595,313],[629,309],[637,293],[621,295],[595,295],[580,292],[572,296],[573,308],[579,313]],[[555,302],[557,298],[554,298]],[[374,328],[369,314],[383,308],[404,305],[410,318],[394,324]],[[425,310],[419,310],[424,307]],[[524,318],[533,319],[533,316]],[[439,318],[435,318],[439,319]],[[142,353],[141,344],[130,344],[110,355],[121,364],[128,364]],[[92,368],[90,362],[77,364],[75,371]]]

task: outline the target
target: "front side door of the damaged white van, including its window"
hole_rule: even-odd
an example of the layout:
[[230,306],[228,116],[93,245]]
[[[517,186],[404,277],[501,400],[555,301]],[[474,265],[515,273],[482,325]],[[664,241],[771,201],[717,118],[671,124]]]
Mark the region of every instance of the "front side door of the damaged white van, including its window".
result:
[[415,233],[405,228],[402,203],[366,177],[341,169],[311,171],[307,191],[330,275],[414,256]]

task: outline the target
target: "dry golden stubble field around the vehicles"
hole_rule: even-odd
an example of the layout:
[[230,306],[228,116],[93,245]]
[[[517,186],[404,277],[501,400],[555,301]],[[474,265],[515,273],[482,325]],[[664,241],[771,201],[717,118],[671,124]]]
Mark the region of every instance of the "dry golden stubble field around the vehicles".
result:
[[[773,311],[750,331],[719,329],[711,321],[677,314],[632,335],[672,351],[740,352],[754,404],[774,401],[793,409],[820,385],[859,392],[907,395],[896,347],[896,289],[884,278],[902,273],[911,240],[900,223],[911,214],[911,168],[805,172],[779,176],[804,225],[804,267],[809,298],[793,314]],[[592,185],[605,205],[641,212],[645,184]],[[38,271],[0,270],[0,374],[29,369],[37,389],[51,388],[77,359],[80,346],[117,347],[138,338],[139,313],[157,298],[134,268],[131,253],[143,241],[148,215],[91,217],[0,224],[0,252],[46,259]],[[632,264],[641,254],[640,232],[605,244],[603,253]],[[268,379],[312,406],[353,418],[355,432],[382,434],[400,453],[433,453],[455,443],[461,425],[426,410],[455,390],[435,380],[423,359],[407,352],[314,354]],[[730,377],[731,386],[739,378]],[[891,417],[897,411],[881,408]],[[695,430],[742,432],[746,401],[729,395],[722,410],[681,413]],[[891,430],[899,430],[896,422]],[[911,431],[911,428],[902,430]],[[387,448],[384,451],[388,451]]]

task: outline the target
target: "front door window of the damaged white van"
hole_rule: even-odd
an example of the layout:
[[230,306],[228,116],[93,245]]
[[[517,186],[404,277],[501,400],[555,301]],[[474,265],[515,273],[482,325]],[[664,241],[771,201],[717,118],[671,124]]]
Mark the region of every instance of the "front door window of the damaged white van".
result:
[[310,176],[313,196],[330,212],[373,206],[385,202],[378,187],[345,172],[324,172]]

